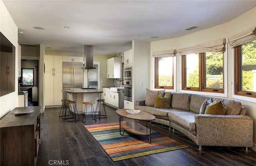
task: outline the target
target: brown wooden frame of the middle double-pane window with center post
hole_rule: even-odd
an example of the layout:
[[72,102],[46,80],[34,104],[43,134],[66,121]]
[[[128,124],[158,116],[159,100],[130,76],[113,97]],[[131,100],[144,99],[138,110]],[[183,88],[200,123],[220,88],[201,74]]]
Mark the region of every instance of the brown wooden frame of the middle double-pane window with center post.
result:
[[197,91],[197,92],[203,92],[203,93],[213,93],[213,94],[225,94],[225,82],[226,79],[224,79],[225,75],[225,55],[224,53],[222,54],[223,56],[223,89],[216,89],[216,88],[206,88],[206,53],[198,53],[198,69],[199,69],[199,87],[187,87],[186,86],[186,56],[187,55],[182,55],[181,57],[181,90],[183,91]]

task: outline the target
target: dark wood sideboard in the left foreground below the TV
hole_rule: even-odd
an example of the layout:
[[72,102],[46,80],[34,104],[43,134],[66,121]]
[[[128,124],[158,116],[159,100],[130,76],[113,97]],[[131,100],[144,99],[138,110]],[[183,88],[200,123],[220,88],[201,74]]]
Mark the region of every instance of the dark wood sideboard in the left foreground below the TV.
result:
[[[0,119],[0,166],[35,166],[40,145],[40,108],[16,107]],[[24,109],[32,113],[17,115]]]

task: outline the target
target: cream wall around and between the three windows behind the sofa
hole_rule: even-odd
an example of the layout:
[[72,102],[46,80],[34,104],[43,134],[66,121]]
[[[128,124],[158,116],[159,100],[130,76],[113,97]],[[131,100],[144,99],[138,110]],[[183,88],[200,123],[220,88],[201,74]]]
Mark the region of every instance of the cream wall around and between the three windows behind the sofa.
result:
[[[242,32],[244,30],[247,30],[255,26],[256,26],[256,8],[253,8],[252,10],[242,14],[238,18],[235,18],[234,20],[227,22],[225,24],[208,28],[206,30],[202,30],[200,32],[196,32],[190,35],[182,36],[180,38],[151,42],[151,52],[166,50],[166,49],[179,49],[183,47],[204,43],[207,41],[212,41],[215,39],[229,38],[234,34],[237,34],[239,32]],[[227,98],[232,99],[233,53],[229,45],[226,51],[228,52],[227,54],[228,55],[228,82],[227,82],[228,97]],[[176,58],[177,92],[180,92],[180,75],[181,75],[180,64],[181,64],[180,55],[178,54]],[[154,68],[153,68],[153,63],[151,58],[151,77],[150,77],[151,82],[154,78],[153,73],[154,73]],[[151,84],[150,87],[152,86],[153,85]],[[243,100],[240,99],[242,105],[247,108],[246,115],[252,117],[254,119],[254,122],[256,122],[256,99],[254,98],[251,100],[255,102],[250,102],[246,100],[247,99],[245,98]],[[256,151],[256,123],[254,123],[254,141],[253,142],[254,142],[253,150]]]

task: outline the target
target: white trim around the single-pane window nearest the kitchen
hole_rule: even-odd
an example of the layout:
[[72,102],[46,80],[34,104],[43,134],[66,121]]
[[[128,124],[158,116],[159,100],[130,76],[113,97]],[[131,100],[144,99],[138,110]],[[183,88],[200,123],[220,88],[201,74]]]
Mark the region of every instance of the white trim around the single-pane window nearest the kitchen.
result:
[[[176,92],[176,56],[174,57],[173,63],[173,89],[165,89],[166,92]],[[152,57],[152,90],[159,91],[160,89],[155,88],[155,58]]]

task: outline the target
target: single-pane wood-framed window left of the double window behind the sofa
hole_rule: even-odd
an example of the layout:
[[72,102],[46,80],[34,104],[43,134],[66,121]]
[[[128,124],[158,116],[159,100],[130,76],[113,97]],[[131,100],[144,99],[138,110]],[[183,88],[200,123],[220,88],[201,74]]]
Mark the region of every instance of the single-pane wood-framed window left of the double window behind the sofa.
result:
[[155,88],[174,89],[174,57],[155,57]]

